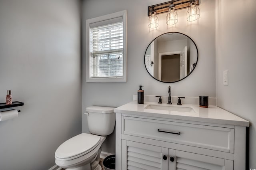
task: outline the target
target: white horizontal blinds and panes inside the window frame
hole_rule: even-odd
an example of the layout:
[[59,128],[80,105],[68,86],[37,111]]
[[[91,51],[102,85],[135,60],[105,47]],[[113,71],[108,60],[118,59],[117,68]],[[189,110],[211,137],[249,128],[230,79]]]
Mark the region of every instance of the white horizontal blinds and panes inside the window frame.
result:
[[123,77],[122,17],[90,24],[90,77]]

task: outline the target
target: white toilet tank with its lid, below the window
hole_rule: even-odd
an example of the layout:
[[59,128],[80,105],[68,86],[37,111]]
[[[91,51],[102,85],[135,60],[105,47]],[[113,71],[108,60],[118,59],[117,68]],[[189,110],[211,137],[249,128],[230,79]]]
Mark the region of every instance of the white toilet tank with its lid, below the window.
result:
[[90,106],[86,108],[89,131],[92,134],[106,136],[114,131],[116,113],[114,107]]

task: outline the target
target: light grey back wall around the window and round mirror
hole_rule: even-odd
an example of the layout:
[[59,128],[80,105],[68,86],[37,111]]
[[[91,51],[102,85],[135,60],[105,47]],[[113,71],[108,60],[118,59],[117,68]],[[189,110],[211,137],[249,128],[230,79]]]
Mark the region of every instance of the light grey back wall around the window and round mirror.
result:
[[[166,0],[83,0],[82,22],[85,33],[85,20],[127,10],[128,71],[126,83],[86,83],[85,50],[82,53],[82,111],[90,105],[118,107],[132,101],[139,85],[144,85],[145,95],[168,95],[171,85],[173,96],[208,95],[216,97],[215,82],[215,1],[202,0],[201,17],[188,23],[186,10],[179,10],[179,21],[175,26],[166,25],[166,14],[158,15],[156,30],[148,28],[148,6]],[[176,83],[161,83],[153,79],[144,66],[144,54],[148,44],[166,32],[181,32],[188,35],[198,46],[199,61],[190,76]],[[82,47],[85,49],[85,35]],[[199,83],[200,82],[200,83]],[[156,99],[157,101],[157,99]],[[83,132],[89,132],[87,118],[83,115]],[[108,145],[107,145],[108,144]],[[115,152],[114,134],[108,137],[104,151]]]

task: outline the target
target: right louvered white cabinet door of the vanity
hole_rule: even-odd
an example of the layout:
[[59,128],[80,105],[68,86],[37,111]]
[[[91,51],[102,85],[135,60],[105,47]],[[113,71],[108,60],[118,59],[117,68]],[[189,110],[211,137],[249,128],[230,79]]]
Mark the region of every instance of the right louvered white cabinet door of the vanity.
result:
[[169,149],[168,167],[169,170],[233,170],[233,161]]

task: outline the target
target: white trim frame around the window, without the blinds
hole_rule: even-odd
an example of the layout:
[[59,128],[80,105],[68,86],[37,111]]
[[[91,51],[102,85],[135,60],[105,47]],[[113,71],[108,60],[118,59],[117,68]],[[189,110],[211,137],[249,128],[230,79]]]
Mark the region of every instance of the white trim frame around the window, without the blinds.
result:
[[[123,18],[123,77],[106,77],[106,78],[90,78],[90,24],[117,18],[122,16]],[[96,18],[86,20],[86,82],[126,82],[127,78],[127,11],[123,10]]]

